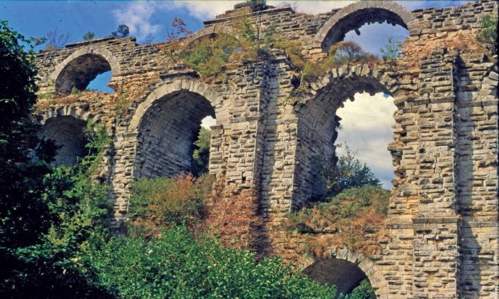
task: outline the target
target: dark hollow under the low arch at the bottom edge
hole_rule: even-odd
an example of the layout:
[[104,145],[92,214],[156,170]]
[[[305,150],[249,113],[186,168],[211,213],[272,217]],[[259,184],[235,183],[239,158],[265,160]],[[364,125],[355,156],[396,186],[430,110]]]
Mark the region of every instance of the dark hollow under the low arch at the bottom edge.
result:
[[350,293],[367,278],[356,264],[338,258],[317,261],[305,268],[302,273],[319,283],[336,285],[338,292],[343,294]]

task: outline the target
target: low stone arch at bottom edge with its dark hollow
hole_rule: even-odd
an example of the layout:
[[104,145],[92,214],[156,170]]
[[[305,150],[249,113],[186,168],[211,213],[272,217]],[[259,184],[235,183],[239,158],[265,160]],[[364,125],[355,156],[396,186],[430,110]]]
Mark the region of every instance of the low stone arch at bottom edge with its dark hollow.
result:
[[324,258],[306,266],[302,273],[319,283],[336,285],[339,293],[350,293],[365,278],[378,298],[388,298],[387,283],[379,267],[370,258],[346,247],[331,247]]

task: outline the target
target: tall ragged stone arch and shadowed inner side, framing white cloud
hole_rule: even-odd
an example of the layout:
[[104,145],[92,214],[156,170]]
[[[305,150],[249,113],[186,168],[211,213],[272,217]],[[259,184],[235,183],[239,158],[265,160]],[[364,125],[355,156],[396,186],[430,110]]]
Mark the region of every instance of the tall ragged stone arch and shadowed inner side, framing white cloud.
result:
[[[337,132],[341,118],[336,110],[344,102],[354,100],[356,93],[388,93],[395,98],[395,106],[402,106],[397,99],[402,95],[398,81],[391,78],[387,68],[371,68],[368,64],[343,65],[332,69],[311,85],[309,100],[297,104],[298,135],[297,164],[294,187],[297,189],[292,206],[294,209],[306,204],[313,196],[319,196],[322,188],[317,172],[317,159],[331,161],[335,157]],[[401,109],[401,107],[398,107]],[[396,126],[398,126],[396,122]],[[398,137],[396,137],[398,138]],[[392,154],[393,163],[398,163]],[[396,176],[398,174],[396,173]]]

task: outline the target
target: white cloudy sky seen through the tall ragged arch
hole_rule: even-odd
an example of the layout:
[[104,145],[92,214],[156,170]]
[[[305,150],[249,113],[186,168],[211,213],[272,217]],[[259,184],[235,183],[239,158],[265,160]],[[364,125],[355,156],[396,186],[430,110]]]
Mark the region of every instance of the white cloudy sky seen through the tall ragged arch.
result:
[[[383,93],[372,97],[367,93],[357,93],[354,102],[347,101],[337,112],[342,120],[336,145],[346,142],[357,151],[356,157],[371,168],[386,188],[391,187],[393,179],[391,154],[387,147],[393,141],[395,110],[393,98],[384,98]],[[340,148],[338,153],[344,153],[344,148]]]

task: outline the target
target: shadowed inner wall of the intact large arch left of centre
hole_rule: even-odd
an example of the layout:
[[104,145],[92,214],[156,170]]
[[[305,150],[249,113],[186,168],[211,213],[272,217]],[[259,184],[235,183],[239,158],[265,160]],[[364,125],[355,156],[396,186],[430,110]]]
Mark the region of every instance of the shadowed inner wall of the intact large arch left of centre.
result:
[[207,116],[215,117],[215,110],[197,93],[182,90],[156,101],[139,125],[135,177],[190,172],[193,142]]

